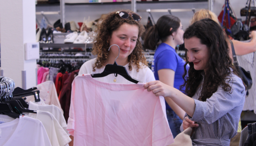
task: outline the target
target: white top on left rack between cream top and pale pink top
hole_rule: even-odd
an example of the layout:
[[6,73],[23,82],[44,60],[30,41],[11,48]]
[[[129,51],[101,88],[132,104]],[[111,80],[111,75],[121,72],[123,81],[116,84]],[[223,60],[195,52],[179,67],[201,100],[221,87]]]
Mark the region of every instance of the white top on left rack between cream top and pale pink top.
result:
[[68,134],[66,120],[65,120],[63,114],[61,113],[61,110],[57,106],[54,106],[54,105],[37,105],[33,102],[29,102],[28,108],[30,110],[40,110],[40,111],[50,112],[51,114],[53,114],[53,116],[57,119],[58,123],[61,125],[61,127]]

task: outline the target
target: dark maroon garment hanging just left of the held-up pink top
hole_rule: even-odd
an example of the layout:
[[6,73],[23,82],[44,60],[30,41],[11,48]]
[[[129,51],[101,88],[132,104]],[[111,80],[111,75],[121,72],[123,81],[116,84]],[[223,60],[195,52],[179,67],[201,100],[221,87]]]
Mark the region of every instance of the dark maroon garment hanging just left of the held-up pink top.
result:
[[72,82],[74,78],[78,75],[78,72],[79,70],[75,70],[70,74],[70,76],[68,76],[67,80],[63,84],[62,91],[60,94],[61,108],[64,111],[64,117],[66,122],[69,117]]

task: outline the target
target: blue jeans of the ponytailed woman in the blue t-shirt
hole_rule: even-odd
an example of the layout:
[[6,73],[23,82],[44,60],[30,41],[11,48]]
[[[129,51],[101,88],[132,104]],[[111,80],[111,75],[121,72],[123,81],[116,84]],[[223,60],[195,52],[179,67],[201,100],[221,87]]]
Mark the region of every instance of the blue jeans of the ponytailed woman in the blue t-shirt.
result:
[[172,136],[175,138],[179,133],[181,133],[179,128],[183,121],[173,110],[166,110],[166,116],[172,131]]

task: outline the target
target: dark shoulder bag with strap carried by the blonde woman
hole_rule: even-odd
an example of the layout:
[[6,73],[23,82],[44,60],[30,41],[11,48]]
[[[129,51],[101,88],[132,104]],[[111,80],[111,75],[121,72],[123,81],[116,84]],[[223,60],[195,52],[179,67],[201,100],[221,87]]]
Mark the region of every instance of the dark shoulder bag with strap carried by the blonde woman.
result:
[[[235,49],[234,49],[234,44],[232,43],[232,41],[230,41],[230,43],[231,43],[231,47],[232,47],[232,55],[233,55],[233,60],[234,60],[234,66],[236,67],[236,70],[238,71],[239,76],[243,80],[243,83],[245,83],[246,90],[249,90],[253,86],[253,80],[252,80],[251,73],[249,71],[244,70],[243,67],[238,65],[238,62],[236,60],[236,52],[235,52]],[[249,93],[247,91],[246,96],[248,96],[248,95],[249,95]]]

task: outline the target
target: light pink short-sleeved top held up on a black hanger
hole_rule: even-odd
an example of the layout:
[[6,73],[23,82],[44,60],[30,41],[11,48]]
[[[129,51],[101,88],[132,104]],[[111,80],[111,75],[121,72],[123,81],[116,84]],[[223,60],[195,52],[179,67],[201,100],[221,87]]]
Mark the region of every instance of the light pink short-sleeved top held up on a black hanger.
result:
[[74,146],[167,146],[174,142],[165,100],[145,83],[118,84],[75,77],[67,130]]

